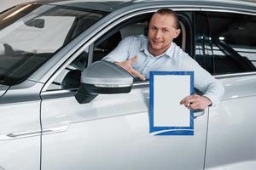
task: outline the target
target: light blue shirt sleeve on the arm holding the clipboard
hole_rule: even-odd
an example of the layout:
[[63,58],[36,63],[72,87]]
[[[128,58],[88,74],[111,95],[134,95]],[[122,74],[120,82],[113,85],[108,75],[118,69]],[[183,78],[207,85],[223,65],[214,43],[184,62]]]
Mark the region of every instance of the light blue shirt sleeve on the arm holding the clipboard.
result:
[[189,57],[188,54],[183,58],[183,68],[188,71],[194,71],[195,88],[203,93],[212,101],[212,106],[218,105],[224,96],[224,86],[217,79],[199,65],[195,59]]

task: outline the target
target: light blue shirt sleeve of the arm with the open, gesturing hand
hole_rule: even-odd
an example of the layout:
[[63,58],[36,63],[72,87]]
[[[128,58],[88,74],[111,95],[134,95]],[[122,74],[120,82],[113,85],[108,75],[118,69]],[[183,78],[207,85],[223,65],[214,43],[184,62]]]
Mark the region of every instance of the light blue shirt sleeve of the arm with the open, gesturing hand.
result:
[[125,39],[119,42],[119,45],[102,60],[107,60],[109,62],[122,62],[127,60],[131,44],[133,44],[132,37],[125,37]]

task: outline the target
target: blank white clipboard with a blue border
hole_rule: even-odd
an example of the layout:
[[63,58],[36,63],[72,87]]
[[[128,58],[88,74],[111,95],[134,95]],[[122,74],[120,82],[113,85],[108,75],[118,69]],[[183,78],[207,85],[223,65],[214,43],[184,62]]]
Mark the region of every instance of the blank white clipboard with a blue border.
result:
[[194,71],[150,71],[149,133],[194,135],[194,111],[179,102],[194,94]]

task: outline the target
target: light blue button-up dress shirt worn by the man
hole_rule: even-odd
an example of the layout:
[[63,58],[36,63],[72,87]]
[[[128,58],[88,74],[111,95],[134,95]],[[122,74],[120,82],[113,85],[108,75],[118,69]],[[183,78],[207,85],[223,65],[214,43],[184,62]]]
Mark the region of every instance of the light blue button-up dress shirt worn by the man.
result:
[[212,105],[217,105],[224,95],[222,83],[212,77],[174,42],[171,43],[165,54],[153,56],[148,52],[147,37],[143,35],[125,37],[119,42],[118,47],[103,59],[110,62],[121,62],[135,56],[137,56],[137,61],[132,67],[147,79],[149,71],[194,71],[195,88],[211,99]]

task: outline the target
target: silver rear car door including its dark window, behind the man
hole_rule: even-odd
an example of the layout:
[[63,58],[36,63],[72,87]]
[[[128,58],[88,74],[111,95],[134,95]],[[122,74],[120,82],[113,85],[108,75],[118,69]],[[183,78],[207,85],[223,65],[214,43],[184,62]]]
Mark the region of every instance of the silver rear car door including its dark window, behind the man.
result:
[[255,169],[255,14],[217,9],[203,14],[211,28],[210,70],[225,88],[222,103],[209,111],[206,169]]

